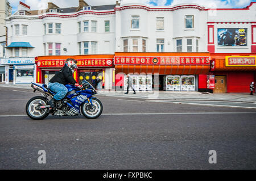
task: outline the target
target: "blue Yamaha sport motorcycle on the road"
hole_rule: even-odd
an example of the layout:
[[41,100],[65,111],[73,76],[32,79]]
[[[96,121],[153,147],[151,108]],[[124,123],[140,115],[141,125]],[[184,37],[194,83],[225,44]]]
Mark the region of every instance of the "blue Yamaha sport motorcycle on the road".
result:
[[65,85],[68,89],[67,95],[56,102],[56,107],[49,105],[49,100],[56,94],[48,89],[46,84],[31,83],[35,91],[42,92],[42,96],[35,96],[28,100],[26,113],[34,120],[42,120],[50,113],[55,116],[77,116],[84,115],[88,119],[96,119],[103,111],[102,103],[93,97],[97,91],[87,81],[82,81],[82,89],[73,85]]

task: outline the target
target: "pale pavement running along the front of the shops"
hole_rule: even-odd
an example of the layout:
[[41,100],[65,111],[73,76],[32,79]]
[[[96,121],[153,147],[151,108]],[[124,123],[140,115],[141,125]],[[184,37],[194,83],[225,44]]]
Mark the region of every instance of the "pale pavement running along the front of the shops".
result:
[[[9,85],[0,84],[0,87],[13,87],[15,89],[32,89],[31,84],[16,84]],[[250,102],[256,103],[256,95],[250,93],[226,93],[226,94],[211,94],[209,92],[197,91],[137,91],[133,94],[124,94],[125,91],[97,91],[98,95],[115,96],[119,98],[136,98],[136,99],[168,99],[168,100],[222,100],[231,102]]]

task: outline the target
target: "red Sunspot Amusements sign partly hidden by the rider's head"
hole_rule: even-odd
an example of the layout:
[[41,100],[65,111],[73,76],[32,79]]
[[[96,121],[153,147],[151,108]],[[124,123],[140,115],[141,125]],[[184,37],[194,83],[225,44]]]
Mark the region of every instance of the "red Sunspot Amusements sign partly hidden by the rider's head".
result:
[[[66,60],[38,60],[36,65],[38,67],[63,67]],[[113,66],[111,58],[100,59],[76,59],[78,67],[91,67],[91,66]]]

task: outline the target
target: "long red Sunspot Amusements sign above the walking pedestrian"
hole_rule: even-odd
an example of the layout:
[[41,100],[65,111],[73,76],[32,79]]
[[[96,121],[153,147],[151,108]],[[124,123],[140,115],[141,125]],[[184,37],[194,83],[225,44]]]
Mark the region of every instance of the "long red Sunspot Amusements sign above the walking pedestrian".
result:
[[210,57],[115,56],[115,65],[210,65]]

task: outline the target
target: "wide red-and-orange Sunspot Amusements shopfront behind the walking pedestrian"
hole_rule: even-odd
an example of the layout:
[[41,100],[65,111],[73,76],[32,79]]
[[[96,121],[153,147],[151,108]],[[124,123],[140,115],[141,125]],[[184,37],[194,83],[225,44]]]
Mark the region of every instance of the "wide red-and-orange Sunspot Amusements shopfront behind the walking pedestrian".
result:
[[[155,87],[166,91],[200,91],[200,75],[210,69],[209,53],[123,53],[116,52],[115,88],[126,87],[130,74],[133,87],[139,91],[151,91]],[[158,82],[156,81],[158,79]],[[203,85],[207,80],[203,79]]]

